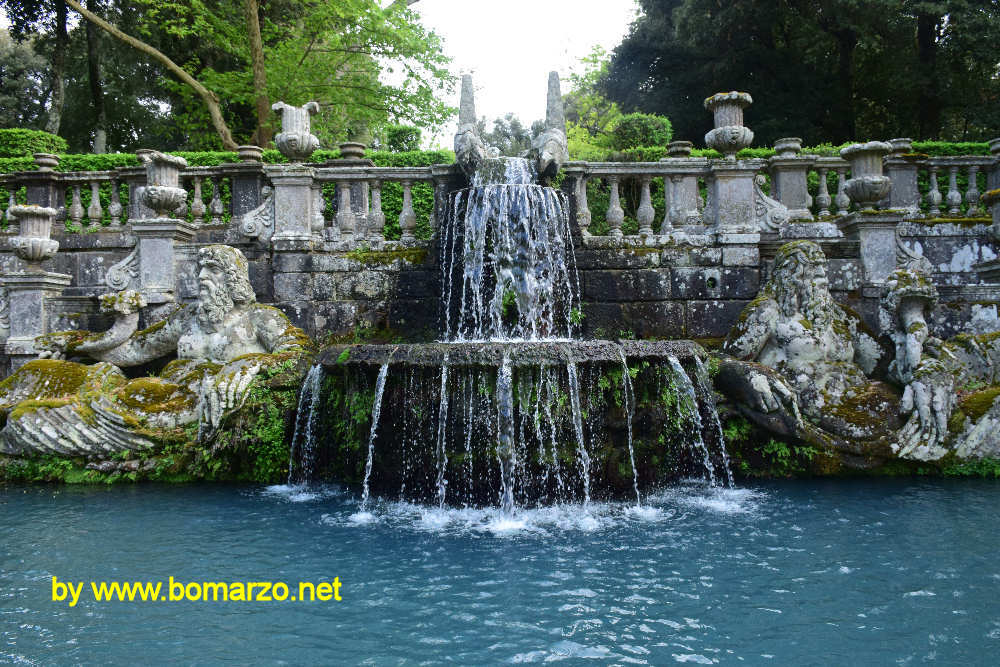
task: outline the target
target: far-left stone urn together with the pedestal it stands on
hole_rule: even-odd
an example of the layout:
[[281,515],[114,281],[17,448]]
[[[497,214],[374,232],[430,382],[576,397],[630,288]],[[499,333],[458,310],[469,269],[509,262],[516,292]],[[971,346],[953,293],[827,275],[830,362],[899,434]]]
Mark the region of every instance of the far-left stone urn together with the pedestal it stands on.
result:
[[50,301],[60,296],[72,281],[65,273],[42,268],[42,262],[59,250],[59,243],[49,238],[56,210],[46,206],[15,206],[13,215],[21,229],[10,243],[27,267],[0,277],[0,287],[7,290],[10,321],[4,351],[10,357],[12,371],[35,356],[35,338],[48,333]]

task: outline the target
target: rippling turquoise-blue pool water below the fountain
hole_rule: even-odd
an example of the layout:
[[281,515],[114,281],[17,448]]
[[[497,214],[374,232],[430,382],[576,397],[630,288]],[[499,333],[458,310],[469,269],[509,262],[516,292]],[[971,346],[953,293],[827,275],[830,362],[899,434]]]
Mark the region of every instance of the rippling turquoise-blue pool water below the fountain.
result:
[[[1000,483],[667,489],[496,511],[336,487],[0,488],[0,662],[996,664]],[[86,582],[76,606],[52,577]],[[339,577],[342,601],[97,602]],[[164,591],[165,592],[165,591]],[[588,660],[584,660],[588,659]]]

